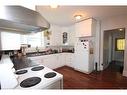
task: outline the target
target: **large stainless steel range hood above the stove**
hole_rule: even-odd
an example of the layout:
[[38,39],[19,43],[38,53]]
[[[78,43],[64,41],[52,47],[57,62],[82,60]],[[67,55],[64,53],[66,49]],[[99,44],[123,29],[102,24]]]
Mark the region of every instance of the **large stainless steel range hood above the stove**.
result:
[[40,13],[22,6],[2,6],[0,12],[0,30],[31,33],[50,27]]

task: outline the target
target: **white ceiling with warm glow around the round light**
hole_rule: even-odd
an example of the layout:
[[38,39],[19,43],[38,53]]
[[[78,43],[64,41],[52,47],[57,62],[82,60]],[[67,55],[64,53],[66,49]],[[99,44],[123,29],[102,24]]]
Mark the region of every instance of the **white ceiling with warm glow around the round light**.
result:
[[104,19],[112,16],[126,15],[127,6],[36,6],[36,10],[50,23],[60,26],[72,25],[76,22],[75,15],[82,15],[82,19],[93,17]]

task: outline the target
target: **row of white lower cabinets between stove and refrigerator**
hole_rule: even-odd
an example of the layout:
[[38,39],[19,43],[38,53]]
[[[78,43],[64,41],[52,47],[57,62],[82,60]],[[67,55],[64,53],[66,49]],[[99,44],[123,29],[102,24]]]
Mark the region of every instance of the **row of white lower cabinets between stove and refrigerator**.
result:
[[51,55],[29,57],[37,64],[42,64],[48,68],[55,69],[67,65],[73,67],[73,53],[58,53]]

